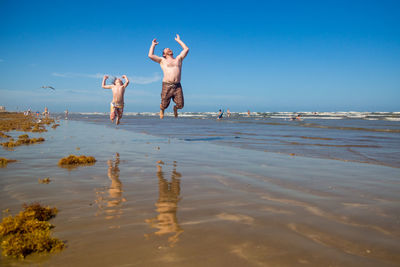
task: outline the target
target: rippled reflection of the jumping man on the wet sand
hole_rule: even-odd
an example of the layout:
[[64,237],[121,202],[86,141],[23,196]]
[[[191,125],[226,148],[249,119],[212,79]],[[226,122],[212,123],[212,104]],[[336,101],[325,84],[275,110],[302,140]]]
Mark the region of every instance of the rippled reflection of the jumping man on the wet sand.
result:
[[[179,241],[179,236],[183,232],[176,216],[181,191],[180,178],[182,177],[182,175],[176,171],[176,166],[177,164],[174,161],[171,182],[168,182],[168,180],[164,178],[162,166],[157,165],[159,195],[155,206],[158,215],[146,220],[150,227],[157,229],[157,231],[152,234],[156,236],[170,235],[168,237],[168,244],[171,247]],[[149,238],[151,234],[146,234],[145,236]]]

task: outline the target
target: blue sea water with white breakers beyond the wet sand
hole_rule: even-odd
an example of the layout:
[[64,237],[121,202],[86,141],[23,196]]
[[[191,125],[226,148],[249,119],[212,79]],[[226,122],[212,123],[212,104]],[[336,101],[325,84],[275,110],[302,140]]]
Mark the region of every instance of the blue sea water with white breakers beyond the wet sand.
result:
[[[214,115],[184,113],[161,121],[157,114],[128,114],[120,127],[187,142],[400,167],[398,113],[305,113],[302,121],[290,121],[292,113],[233,114],[220,121]],[[70,119],[109,125],[106,114]]]

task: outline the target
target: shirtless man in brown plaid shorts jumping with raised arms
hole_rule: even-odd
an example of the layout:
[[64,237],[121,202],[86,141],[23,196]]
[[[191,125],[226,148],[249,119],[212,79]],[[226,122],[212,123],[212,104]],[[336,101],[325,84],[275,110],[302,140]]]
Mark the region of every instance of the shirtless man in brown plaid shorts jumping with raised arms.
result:
[[160,104],[160,119],[164,118],[164,110],[169,106],[172,100],[175,102],[174,115],[178,117],[178,109],[183,108],[183,92],[181,85],[181,72],[182,72],[182,61],[189,52],[189,48],[182,42],[181,38],[177,34],[175,37],[183,48],[182,52],[174,58],[172,50],[165,48],[163,50],[163,56],[158,57],[154,55],[154,48],[158,45],[156,39],[153,40],[149,50],[149,58],[160,64],[161,69],[164,72],[162,91],[161,91],[161,104]]

